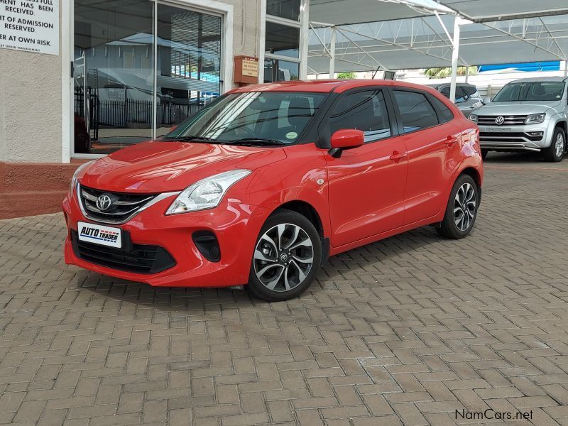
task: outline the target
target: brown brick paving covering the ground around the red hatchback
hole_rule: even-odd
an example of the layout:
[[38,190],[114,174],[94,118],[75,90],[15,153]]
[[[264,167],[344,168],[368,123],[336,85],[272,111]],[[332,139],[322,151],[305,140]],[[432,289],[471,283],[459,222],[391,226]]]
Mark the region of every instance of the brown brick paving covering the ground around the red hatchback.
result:
[[568,161],[490,154],[468,239],[370,244],[272,304],[65,266],[60,214],[0,221],[0,424],[568,425],[567,208]]

